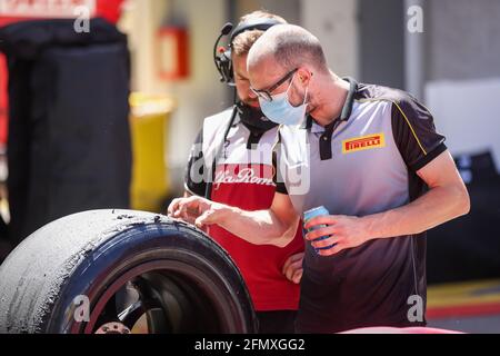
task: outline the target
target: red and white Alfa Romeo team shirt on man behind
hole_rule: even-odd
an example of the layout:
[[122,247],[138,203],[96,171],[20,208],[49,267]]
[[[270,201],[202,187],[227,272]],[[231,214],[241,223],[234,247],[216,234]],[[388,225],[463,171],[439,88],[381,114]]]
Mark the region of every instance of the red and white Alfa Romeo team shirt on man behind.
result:
[[[206,182],[200,181],[204,167],[211,167],[213,154],[221,144],[231,110],[209,117],[197,138],[189,159],[186,188],[204,196]],[[247,148],[251,130],[237,117],[216,167],[211,200],[243,210],[268,209],[276,191],[272,168],[272,145],[277,129],[266,131],[256,149]],[[203,165],[200,165],[203,160]],[[198,162],[198,164],[197,164]],[[253,306],[258,312],[296,310],[300,287],[282,273],[287,258],[303,251],[302,231],[299,226],[294,239],[286,247],[250,244],[226,229],[213,225],[209,235],[232,257],[243,276]]]

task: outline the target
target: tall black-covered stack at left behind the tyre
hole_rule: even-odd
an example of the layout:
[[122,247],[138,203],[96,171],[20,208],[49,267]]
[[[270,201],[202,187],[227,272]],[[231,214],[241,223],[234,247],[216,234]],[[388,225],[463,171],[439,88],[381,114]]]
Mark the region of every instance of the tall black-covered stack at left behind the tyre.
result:
[[127,208],[131,179],[127,38],[103,19],[0,29],[9,67],[12,245],[68,214]]

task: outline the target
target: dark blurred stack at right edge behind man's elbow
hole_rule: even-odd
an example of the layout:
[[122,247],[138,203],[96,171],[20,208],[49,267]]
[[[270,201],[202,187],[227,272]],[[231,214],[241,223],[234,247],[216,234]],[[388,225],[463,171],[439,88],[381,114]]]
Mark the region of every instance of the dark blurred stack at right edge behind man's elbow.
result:
[[467,184],[471,210],[429,231],[430,284],[500,277],[500,175],[493,155],[462,155],[456,164]]

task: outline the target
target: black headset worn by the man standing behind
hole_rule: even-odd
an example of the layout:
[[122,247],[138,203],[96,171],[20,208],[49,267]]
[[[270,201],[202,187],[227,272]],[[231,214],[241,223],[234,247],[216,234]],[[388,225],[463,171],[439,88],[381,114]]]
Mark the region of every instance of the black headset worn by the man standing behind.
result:
[[[282,22],[276,19],[252,19],[251,21],[239,23],[237,28],[231,32],[233,24],[231,22],[227,22],[220,30],[220,34],[216,40],[216,44],[213,46],[213,61],[216,62],[217,70],[220,73],[220,81],[226,82],[230,86],[234,85],[234,78],[232,73],[231,49],[232,49],[232,41],[238,34],[252,30],[266,31],[270,27],[280,23]],[[229,48],[226,49],[223,47],[219,47],[219,42],[222,39],[222,37],[228,36],[229,33],[231,33],[229,38]]]

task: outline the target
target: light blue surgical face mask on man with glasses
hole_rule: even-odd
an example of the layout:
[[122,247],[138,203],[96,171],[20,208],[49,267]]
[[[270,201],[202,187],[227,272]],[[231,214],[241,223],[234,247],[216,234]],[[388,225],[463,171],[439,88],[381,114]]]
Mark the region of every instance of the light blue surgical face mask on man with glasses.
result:
[[306,118],[306,109],[308,107],[306,98],[308,97],[308,88],[306,88],[302,105],[298,107],[292,106],[290,103],[288,92],[291,88],[293,79],[294,76],[290,81],[290,86],[288,86],[287,91],[271,97],[272,101],[268,101],[259,97],[260,109],[269,120],[280,125],[300,125]]

